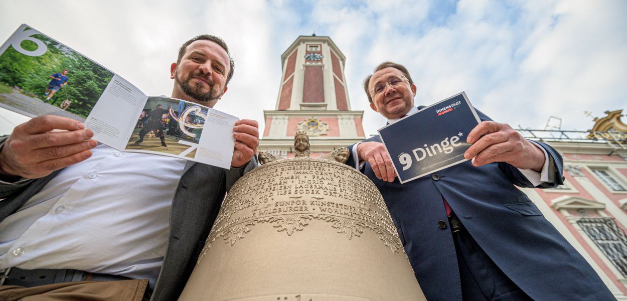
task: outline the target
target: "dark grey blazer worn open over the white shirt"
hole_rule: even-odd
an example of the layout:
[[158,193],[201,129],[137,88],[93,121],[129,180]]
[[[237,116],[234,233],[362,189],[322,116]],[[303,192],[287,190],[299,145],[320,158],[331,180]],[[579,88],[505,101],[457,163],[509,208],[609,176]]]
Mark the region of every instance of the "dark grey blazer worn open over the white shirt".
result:
[[[0,140],[0,145],[2,142]],[[255,159],[245,167],[230,170],[187,161],[172,199],[166,256],[151,300],[179,298],[218,216],[224,195],[255,166]],[[0,184],[0,199],[6,198],[0,201],[0,221],[19,209],[59,172],[19,185]]]

